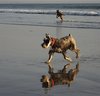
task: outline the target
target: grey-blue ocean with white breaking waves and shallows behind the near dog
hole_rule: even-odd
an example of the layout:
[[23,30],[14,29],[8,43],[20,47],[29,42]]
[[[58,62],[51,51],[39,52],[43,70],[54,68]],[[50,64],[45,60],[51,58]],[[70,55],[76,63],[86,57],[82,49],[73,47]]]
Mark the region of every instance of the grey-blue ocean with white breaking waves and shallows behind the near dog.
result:
[[100,4],[0,4],[0,24],[100,29]]

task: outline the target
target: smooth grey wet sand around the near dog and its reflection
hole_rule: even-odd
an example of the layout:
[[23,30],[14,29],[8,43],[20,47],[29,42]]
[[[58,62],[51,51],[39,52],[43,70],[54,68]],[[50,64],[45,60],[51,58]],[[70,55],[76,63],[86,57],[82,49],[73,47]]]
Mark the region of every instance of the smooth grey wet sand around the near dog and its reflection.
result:
[[[66,85],[43,89],[40,79],[48,73],[42,63],[48,49],[41,47],[45,33],[60,38],[71,33],[81,50],[80,72],[70,88]],[[61,69],[68,62],[55,54],[52,65]],[[0,96],[100,96],[100,30],[0,24]]]

